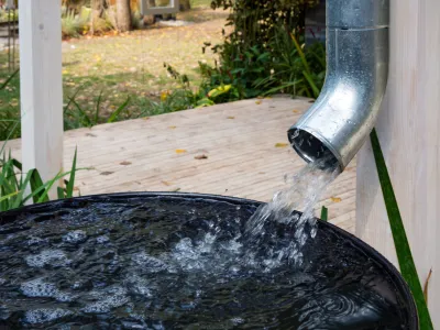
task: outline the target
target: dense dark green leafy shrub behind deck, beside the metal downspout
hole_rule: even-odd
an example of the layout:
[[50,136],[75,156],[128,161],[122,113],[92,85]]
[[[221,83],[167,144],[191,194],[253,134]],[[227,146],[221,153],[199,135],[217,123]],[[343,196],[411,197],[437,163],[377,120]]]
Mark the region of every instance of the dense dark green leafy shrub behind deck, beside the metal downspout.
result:
[[[215,0],[213,9],[232,9],[228,25],[233,31],[223,44],[207,47],[219,54],[215,67],[200,64],[201,89],[231,85],[238,90],[219,101],[274,92],[317,98],[326,75],[321,44],[305,47],[304,12],[319,0]],[[226,32],[223,31],[223,34]]]

